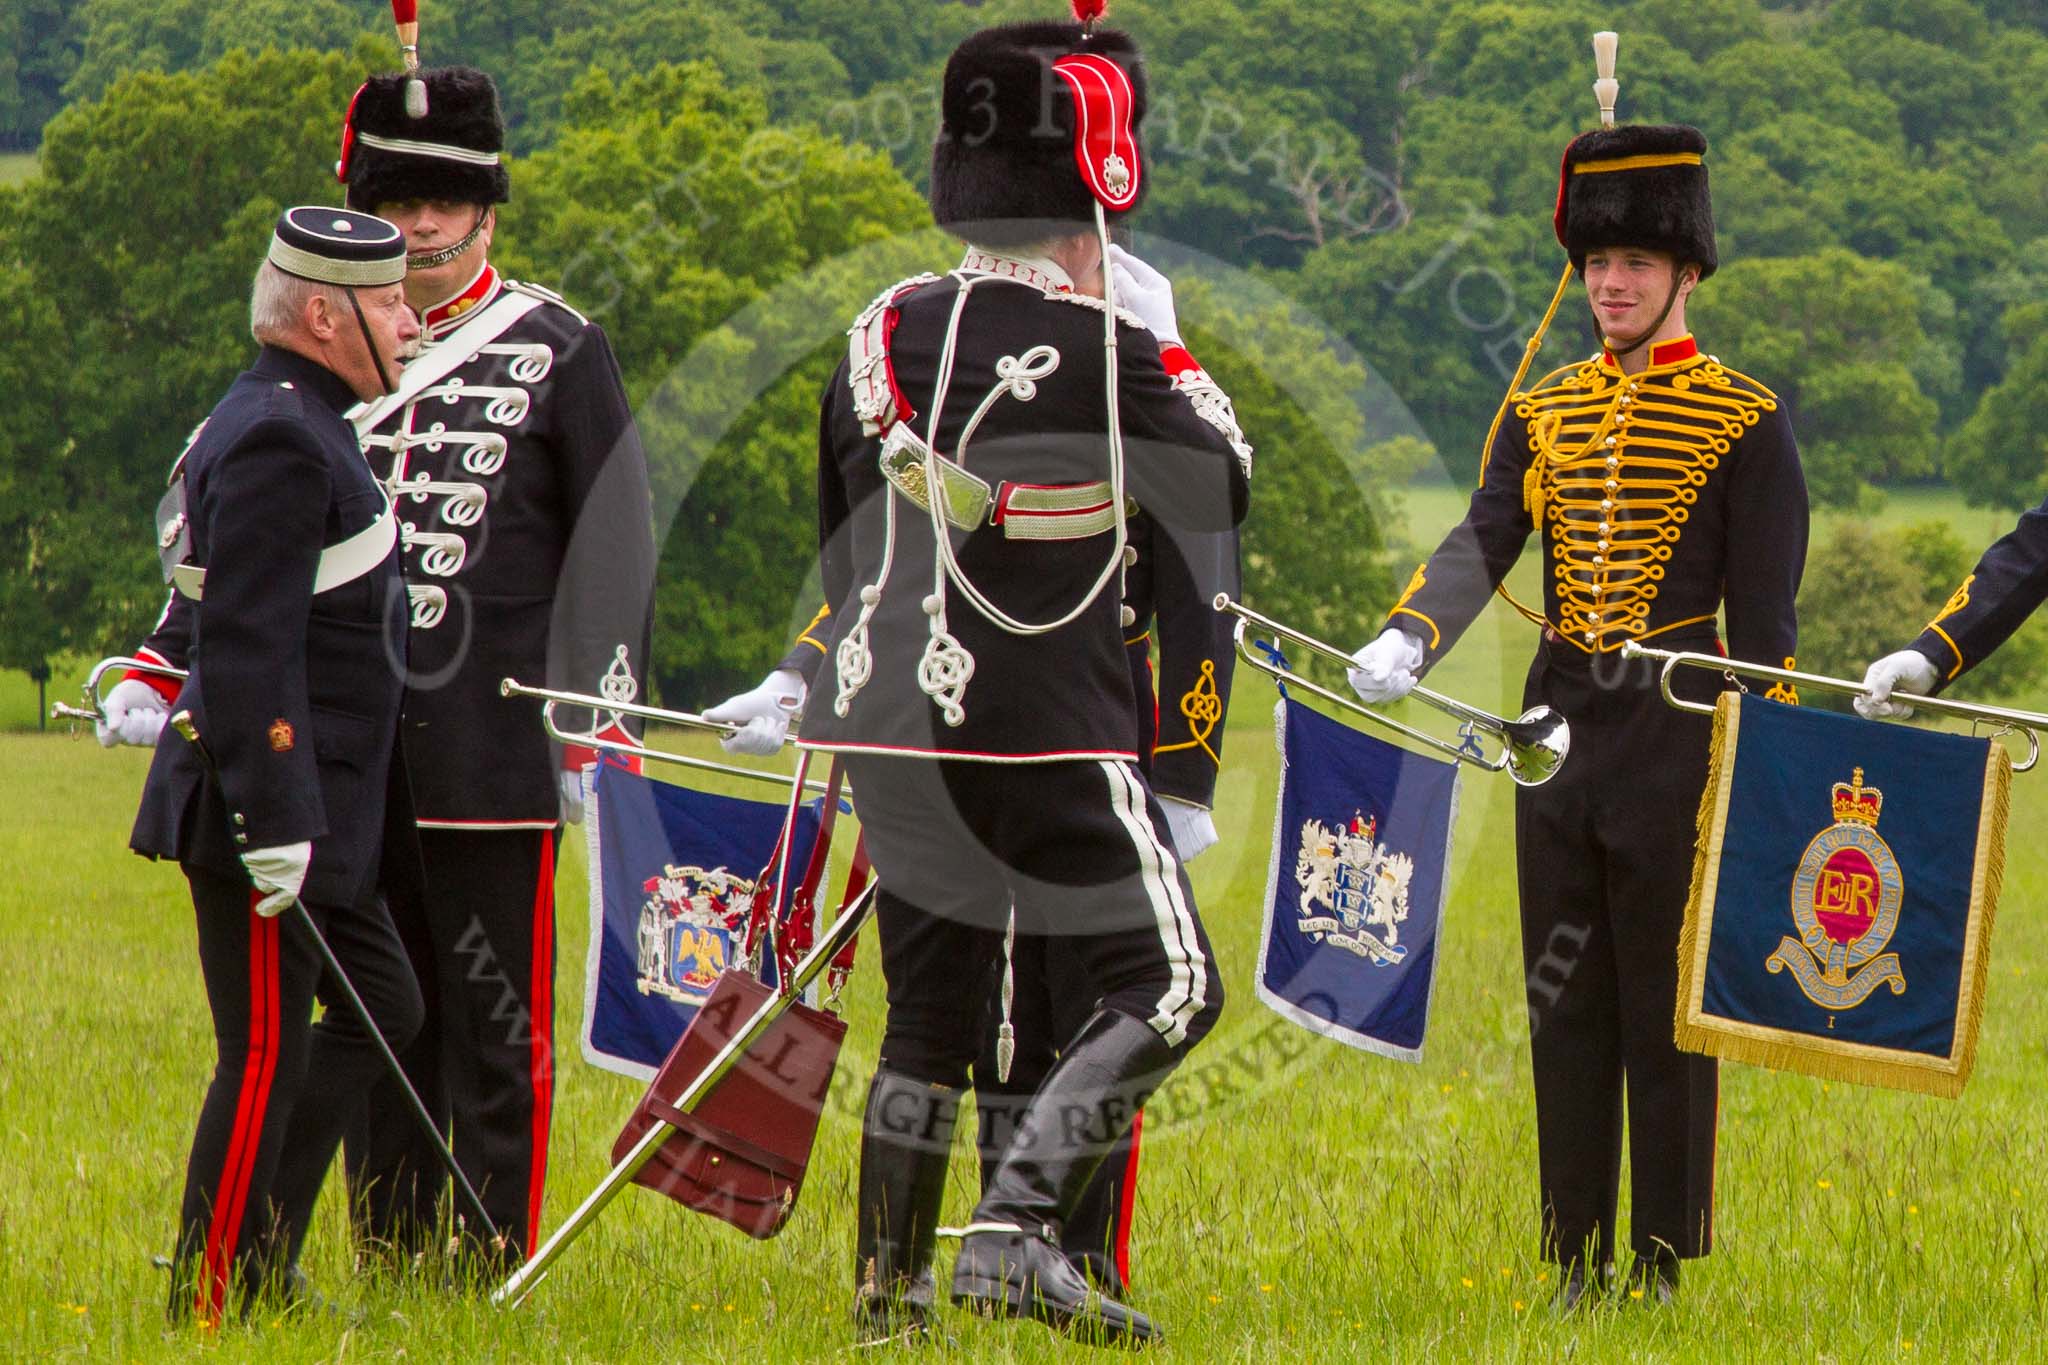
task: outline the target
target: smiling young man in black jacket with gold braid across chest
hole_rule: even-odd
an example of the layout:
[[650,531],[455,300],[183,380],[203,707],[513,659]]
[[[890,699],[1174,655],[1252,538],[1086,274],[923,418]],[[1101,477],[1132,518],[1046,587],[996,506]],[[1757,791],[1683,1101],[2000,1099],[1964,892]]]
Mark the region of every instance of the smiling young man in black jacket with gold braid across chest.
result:
[[1679,1261],[1712,1244],[1716,1070],[1671,1042],[1710,722],[1665,706],[1657,669],[1618,651],[1716,651],[1724,610],[1729,653],[1790,665],[1806,485],[1780,401],[1686,329],[1716,266],[1706,137],[1575,139],[1556,235],[1604,348],[1507,397],[1470,512],[1358,651],[1352,686],[1366,702],[1405,694],[1540,532],[1524,702],[1571,720],[1573,753],[1516,792],[1516,853],[1542,1250],[1565,1265],[1559,1306],[1573,1308],[1612,1265],[1624,1093],[1632,1289],[1669,1300]]

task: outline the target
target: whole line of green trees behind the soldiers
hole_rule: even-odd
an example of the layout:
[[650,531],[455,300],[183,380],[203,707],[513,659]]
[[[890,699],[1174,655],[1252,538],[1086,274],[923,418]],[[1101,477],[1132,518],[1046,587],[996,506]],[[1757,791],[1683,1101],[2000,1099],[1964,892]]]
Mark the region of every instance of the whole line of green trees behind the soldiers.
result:
[[[815,591],[840,329],[946,264],[922,201],[946,53],[1063,6],[422,8],[428,59],[504,92],[502,264],[604,323],[639,405],[657,681],[717,694]],[[1190,342],[1260,444],[1247,591],[1278,614],[1358,634],[1415,548],[1389,544],[1395,491],[1477,469],[1563,266],[1556,160],[1591,121],[1599,27],[1622,31],[1620,115],[1714,143],[1724,264],[1696,329],[1788,401],[1817,499],[2048,489],[2038,0],[1120,0],[1112,20],[1151,63],[1139,248],[1178,266]],[[268,221],[336,199],[340,108],[395,53],[383,0],[18,0],[4,53],[0,147],[39,149],[0,190],[0,665],[31,667],[147,626],[150,508],[248,356]],[[1538,364],[1589,348],[1567,305]]]

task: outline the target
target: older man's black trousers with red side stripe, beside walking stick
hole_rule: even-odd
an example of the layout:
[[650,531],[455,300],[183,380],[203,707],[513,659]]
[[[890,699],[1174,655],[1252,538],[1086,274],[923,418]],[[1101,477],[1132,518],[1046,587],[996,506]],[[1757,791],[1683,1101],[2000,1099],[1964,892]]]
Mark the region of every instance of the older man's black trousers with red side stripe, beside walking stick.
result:
[[[297,1261],[334,1148],[383,1062],[297,917],[258,917],[242,878],[184,876],[217,1060],[184,1169],[170,1314],[217,1322]],[[383,902],[307,909],[385,1042],[408,1046],[420,988]]]

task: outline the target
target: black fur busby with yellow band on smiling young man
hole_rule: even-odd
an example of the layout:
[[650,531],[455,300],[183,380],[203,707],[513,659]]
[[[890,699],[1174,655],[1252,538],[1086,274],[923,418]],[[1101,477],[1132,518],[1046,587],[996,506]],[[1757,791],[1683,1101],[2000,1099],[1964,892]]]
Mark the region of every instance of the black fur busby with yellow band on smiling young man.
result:
[[1581,270],[1587,252],[1640,246],[1698,264],[1702,280],[1714,274],[1720,260],[1706,184],[1706,133],[1683,123],[1581,133],[1565,147],[1556,239]]

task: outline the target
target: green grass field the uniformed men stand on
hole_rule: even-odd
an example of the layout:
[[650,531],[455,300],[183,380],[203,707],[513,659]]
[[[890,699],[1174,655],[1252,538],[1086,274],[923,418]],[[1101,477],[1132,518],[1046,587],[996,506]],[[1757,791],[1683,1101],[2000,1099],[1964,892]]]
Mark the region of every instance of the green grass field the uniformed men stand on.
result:
[[[1505,702],[1526,630],[1491,610],[1436,679]],[[1976,1076],[1960,1101],[1724,1068],[1716,1254],[1673,1310],[1559,1322],[1534,1254],[1534,1119],[1513,909],[1511,790],[1464,784],[1427,1056],[1409,1066],[1296,1031],[1251,993],[1276,763],[1247,675],[1194,868],[1233,1003],[1155,1099],[1135,1275],[1171,1359],[2036,1359],[2048,1330],[2048,778],[2015,784],[2005,913]],[[532,1302],[352,1279],[330,1191],[309,1271],[360,1310],[205,1338],[162,1326],[164,1277],[211,1036],[176,870],[129,855],[145,755],[0,735],[0,1353],[18,1359],[776,1359],[848,1345],[858,1097],[881,982],[852,1031],[797,1218],[756,1244],[629,1191]],[[549,1220],[594,1185],[635,1087],[578,1056],[584,857],[561,896],[559,1095]],[[872,962],[872,945],[864,958]],[[954,1162],[948,1216],[973,1201]],[[1624,1216],[1626,1218],[1626,1216]],[[944,1271],[948,1252],[940,1252]],[[1075,1351],[948,1314],[940,1359]]]

